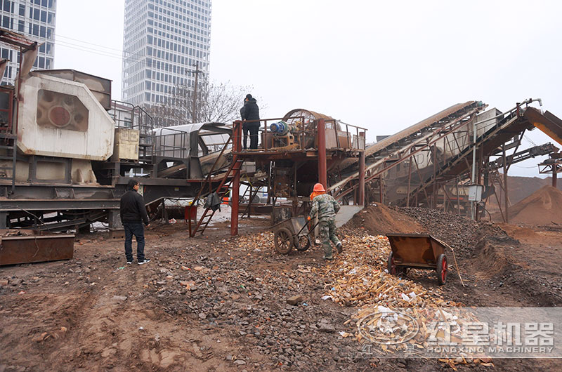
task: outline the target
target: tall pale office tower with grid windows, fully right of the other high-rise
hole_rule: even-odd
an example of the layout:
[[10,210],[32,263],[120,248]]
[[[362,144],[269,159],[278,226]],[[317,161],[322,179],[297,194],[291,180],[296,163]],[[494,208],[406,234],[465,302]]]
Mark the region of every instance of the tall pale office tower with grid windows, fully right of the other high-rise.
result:
[[125,0],[122,100],[145,107],[209,73],[211,0]]

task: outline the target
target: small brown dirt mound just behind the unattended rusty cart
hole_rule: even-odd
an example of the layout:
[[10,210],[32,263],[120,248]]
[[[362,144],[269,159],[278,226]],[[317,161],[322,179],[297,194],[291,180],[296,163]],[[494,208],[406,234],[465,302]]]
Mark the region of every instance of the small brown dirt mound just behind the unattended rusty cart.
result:
[[394,211],[382,204],[372,204],[357,213],[345,227],[365,229],[372,235],[384,235],[389,232],[421,232],[421,225],[413,218]]

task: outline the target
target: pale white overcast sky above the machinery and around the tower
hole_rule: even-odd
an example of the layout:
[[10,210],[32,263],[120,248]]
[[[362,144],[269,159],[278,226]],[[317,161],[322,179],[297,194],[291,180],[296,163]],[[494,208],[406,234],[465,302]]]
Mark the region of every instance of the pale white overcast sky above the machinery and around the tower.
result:
[[[468,100],[507,111],[542,98],[562,118],[562,1],[212,4],[211,80],[253,86],[263,118],[311,109],[368,128],[368,141]],[[120,99],[123,14],[124,0],[58,0],[55,68],[112,79]],[[537,132],[527,138],[554,142]]]

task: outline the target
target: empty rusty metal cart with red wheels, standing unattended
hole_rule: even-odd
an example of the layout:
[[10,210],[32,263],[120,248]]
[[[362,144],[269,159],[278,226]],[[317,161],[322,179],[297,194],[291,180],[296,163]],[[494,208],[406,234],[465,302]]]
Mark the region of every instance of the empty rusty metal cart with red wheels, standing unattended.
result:
[[436,270],[440,286],[447,281],[447,256],[450,246],[429,234],[386,234],[392,251],[388,255],[388,273],[398,275],[407,269]]

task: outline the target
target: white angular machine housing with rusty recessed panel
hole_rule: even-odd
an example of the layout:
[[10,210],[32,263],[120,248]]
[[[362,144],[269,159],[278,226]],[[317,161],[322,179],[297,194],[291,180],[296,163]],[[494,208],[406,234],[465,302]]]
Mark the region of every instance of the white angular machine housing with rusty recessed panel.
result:
[[82,83],[48,75],[22,77],[18,148],[24,154],[107,160],[114,122]]

